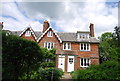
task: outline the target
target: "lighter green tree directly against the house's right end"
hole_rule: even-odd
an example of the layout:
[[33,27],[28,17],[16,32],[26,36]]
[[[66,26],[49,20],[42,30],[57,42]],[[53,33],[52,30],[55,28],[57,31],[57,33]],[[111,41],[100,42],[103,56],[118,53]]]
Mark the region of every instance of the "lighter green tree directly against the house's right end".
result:
[[110,43],[113,43],[112,39],[113,35],[110,32],[101,35],[99,45],[100,63],[110,59],[110,49],[112,47]]

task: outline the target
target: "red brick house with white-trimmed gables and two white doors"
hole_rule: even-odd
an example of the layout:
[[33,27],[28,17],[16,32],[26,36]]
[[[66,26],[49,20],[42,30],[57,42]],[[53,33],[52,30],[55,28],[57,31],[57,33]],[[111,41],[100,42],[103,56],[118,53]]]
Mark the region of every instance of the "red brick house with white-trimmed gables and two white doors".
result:
[[79,68],[87,68],[90,64],[99,64],[99,40],[94,37],[94,25],[90,24],[90,31],[76,33],[55,32],[44,21],[43,31],[34,31],[30,26],[23,31],[12,31],[28,40],[38,42],[41,47],[56,48],[56,68],[64,72],[71,72]]

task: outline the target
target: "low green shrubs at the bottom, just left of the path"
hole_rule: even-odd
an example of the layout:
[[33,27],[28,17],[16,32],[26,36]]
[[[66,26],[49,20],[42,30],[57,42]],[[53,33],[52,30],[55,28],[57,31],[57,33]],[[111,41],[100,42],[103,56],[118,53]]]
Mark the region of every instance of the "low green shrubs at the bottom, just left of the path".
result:
[[32,79],[37,81],[59,81],[62,75],[63,71],[56,68],[39,68]]

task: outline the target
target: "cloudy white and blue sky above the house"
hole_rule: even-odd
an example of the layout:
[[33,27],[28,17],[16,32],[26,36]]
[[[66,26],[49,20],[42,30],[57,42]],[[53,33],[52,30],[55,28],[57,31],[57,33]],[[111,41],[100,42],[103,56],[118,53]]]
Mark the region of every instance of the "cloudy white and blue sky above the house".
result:
[[57,32],[89,31],[95,36],[113,32],[118,26],[119,0],[2,0],[0,22],[4,30],[22,31],[31,26],[42,31],[44,20]]

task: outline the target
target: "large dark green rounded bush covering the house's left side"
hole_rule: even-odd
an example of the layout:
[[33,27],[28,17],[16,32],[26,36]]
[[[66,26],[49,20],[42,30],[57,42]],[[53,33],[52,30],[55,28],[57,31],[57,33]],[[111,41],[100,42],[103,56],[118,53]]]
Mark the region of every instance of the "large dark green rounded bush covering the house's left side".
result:
[[43,61],[40,46],[26,39],[2,33],[2,74],[3,79],[20,79],[24,75],[29,81]]

